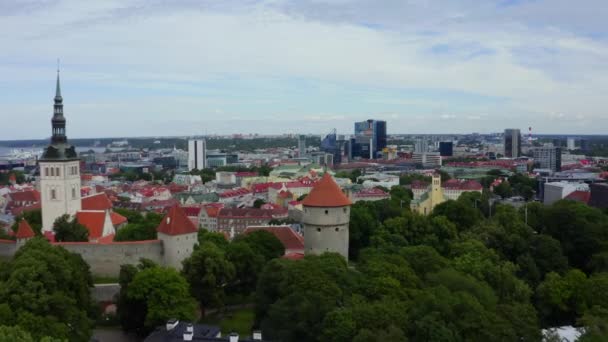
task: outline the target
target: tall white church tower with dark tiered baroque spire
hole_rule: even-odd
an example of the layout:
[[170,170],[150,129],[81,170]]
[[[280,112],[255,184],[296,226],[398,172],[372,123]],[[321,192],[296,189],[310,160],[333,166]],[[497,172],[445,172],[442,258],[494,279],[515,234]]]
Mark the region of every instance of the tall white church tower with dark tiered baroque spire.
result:
[[42,231],[52,231],[55,220],[64,214],[74,215],[80,210],[80,161],[74,146],[65,135],[63,98],[59,86],[55,89],[53,135],[38,162],[40,168],[40,194],[42,204]]

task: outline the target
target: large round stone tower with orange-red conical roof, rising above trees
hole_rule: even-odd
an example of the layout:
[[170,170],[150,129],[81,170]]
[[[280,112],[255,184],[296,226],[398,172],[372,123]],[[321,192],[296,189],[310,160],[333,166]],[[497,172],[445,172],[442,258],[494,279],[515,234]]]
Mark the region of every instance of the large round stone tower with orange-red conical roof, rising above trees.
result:
[[351,201],[329,173],[302,202],[306,254],[340,253],[348,260],[348,224]]

